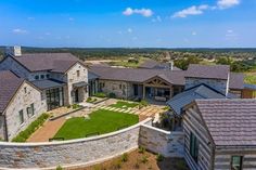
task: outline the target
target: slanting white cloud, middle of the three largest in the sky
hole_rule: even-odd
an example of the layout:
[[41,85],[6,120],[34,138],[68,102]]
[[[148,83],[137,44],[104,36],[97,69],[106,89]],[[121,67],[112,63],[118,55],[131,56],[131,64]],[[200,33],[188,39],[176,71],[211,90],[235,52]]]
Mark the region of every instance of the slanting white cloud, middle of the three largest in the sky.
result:
[[187,17],[189,15],[201,15],[204,13],[204,10],[207,10],[209,6],[207,4],[203,5],[193,5],[182,11],[176,12],[172,17]]

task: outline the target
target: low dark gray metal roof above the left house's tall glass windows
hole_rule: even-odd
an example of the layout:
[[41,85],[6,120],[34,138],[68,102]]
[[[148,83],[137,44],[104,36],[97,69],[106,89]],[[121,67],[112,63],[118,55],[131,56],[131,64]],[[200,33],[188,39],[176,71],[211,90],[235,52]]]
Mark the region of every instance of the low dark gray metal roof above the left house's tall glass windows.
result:
[[51,88],[60,88],[65,84],[65,82],[54,80],[54,79],[36,80],[36,81],[31,81],[31,83],[41,90],[51,89]]

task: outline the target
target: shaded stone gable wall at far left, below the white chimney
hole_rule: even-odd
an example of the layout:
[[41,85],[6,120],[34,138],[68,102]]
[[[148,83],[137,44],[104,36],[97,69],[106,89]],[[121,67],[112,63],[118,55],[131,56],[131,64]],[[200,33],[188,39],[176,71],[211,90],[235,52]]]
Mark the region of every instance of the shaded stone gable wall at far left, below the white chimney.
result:
[[8,56],[0,63],[0,70],[12,70],[22,78],[28,78],[29,71],[17,63],[12,56]]

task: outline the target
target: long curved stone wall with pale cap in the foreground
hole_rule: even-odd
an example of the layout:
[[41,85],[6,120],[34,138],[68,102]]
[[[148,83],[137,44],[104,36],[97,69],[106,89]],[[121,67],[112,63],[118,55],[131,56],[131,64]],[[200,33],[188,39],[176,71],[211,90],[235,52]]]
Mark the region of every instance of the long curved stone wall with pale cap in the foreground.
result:
[[138,147],[142,125],[149,118],[127,129],[94,138],[51,143],[0,142],[0,169],[85,166],[100,162]]

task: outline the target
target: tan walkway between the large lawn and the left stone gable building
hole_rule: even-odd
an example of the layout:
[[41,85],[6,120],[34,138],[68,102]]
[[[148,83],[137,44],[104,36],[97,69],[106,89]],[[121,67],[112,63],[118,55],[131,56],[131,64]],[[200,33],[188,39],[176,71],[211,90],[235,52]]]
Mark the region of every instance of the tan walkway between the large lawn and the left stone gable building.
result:
[[65,117],[47,121],[27,140],[27,142],[48,142],[49,139],[55,135],[65,121]]

